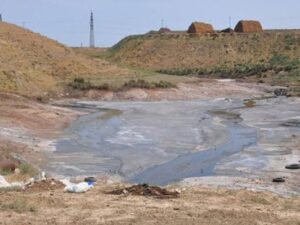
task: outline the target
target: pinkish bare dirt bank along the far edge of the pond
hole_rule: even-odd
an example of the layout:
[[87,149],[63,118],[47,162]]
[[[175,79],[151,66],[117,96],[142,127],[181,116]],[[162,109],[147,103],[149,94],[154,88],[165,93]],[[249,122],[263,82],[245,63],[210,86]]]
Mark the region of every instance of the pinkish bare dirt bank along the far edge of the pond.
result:
[[260,97],[272,95],[276,87],[240,83],[234,80],[212,80],[189,78],[177,84],[176,88],[142,89],[129,88],[122,91],[74,91],[69,98],[86,98],[103,101],[161,101],[195,100],[222,97]]

